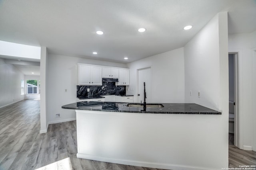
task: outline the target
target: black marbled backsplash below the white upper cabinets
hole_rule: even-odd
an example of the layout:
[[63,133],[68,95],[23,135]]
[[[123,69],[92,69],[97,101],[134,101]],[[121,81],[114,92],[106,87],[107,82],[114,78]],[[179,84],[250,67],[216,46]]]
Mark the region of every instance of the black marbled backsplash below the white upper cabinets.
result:
[[[90,89],[90,92],[87,92],[87,88]],[[102,82],[102,86],[76,86],[76,97],[91,97],[115,94],[125,95],[126,86],[116,86],[115,82]]]

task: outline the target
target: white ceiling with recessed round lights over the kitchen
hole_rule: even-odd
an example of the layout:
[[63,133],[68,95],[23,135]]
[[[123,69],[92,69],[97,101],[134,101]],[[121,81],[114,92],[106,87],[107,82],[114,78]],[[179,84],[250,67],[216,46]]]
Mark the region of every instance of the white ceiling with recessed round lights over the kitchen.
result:
[[129,63],[183,47],[223,11],[229,33],[256,30],[256,0],[0,0],[0,40]]

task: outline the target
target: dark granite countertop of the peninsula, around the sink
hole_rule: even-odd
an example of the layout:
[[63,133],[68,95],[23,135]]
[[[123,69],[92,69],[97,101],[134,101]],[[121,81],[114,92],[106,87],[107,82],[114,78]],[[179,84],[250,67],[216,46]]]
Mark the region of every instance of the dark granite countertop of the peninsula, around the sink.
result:
[[[162,103],[164,107],[128,107],[128,103],[117,102],[77,102],[62,106],[63,109],[128,112],[128,113],[162,113],[162,114],[216,114],[221,112],[198,104]],[[86,107],[102,106],[102,109],[88,109]]]

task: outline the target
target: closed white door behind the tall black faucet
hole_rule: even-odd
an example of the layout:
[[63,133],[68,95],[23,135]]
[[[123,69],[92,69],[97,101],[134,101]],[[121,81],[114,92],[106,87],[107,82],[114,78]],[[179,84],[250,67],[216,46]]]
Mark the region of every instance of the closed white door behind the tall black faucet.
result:
[[144,102],[144,82],[146,88],[146,102],[152,102],[152,72],[151,67],[141,68],[137,70],[137,77],[138,77],[138,102]]

